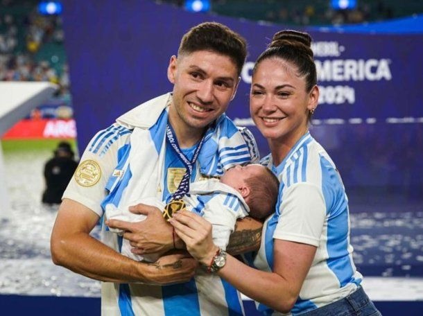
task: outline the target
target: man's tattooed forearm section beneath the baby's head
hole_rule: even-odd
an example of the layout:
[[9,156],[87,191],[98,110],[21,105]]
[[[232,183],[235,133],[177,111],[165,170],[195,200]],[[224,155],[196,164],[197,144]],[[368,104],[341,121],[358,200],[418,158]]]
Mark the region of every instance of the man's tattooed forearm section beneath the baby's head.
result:
[[249,216],[237,220],[226,251],[232,255],[258,250],[261,243],[263,222]]

